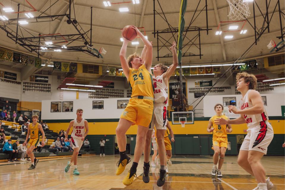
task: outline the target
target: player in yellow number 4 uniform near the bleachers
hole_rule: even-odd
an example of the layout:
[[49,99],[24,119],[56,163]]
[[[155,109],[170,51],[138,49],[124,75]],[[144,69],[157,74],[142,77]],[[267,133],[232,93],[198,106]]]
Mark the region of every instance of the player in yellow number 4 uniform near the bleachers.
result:
[[34,157],[34,153],[33,153],[33,150],[35,147],[37,147],[37,144],[40,142],[40,134],[39,134],[39,130],[42,132],[42,143],[41,143],[41,147],[43,147],[45,145],[45,132],[44,130],[42,129],[42,126],[41,124],[37,123],[39,119],[39,116],[37,115],[33,115],[32,116],[32,123],[30,123],[28,125],[28,132],[27,132],[27,137],[26,137],[26,140],[25,142],[23,143],[23,146],[26,146],[27,144],[27,140],[30,136],[30,140],[29,140],[29,143],[27,145],[27,154],[31,157],[31,166],[29,167],[28,170],[33,170],[36,168],[36,165],[37,165],[37,162],[39,160],[37,160],[35,157]]

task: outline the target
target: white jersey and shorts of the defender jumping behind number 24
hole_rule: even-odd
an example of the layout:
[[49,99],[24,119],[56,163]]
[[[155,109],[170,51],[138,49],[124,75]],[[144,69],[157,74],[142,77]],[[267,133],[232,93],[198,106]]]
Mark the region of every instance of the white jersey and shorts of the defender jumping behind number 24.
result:
[[152,77],[154,86],[154,109],[152,115],[152,122],[150,124],[149,130],[153,130],[155,126],[156,129],[166,129],[166,103],[168,95],[166,93],[166,84],[164,83],[163,77],[157,76]]

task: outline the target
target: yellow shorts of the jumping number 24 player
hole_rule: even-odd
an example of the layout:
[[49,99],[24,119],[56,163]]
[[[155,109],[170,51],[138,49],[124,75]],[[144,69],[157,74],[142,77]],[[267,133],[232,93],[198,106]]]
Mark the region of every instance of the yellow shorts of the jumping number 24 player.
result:
[[153,114],[153,100],[131,98],[120,118],[144,127],[150,127]]

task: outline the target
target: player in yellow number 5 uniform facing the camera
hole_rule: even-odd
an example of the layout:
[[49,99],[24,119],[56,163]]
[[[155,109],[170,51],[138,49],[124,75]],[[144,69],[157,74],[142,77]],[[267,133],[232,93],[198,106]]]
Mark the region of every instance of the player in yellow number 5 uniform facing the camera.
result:
[[[215,109],[216,115],[210,118],[209,124],[207,127],[207,131],[209,133],[213,132],[213,149],[215,151],[214,156],[213,156],[214,166],[213,166],[211,175],[215,176],[217,173],[218,177],[223,177],[221,173],[221,168],[224,163],[224,157],[225,157],[226,149],[228,147],[227,133],[232,132],[232,126],[229,124],[228,125],[215,124],[215,119],[217,118],[224,118],[224,119],[229,119],[229,118],[226,115],[222,114],[223,109],[224,109],[223,105],[216,104],[214,109]],[[220,154],[220,159],[219,159],[219,154]],[[218,164],[218,168],[217,168],[217,164]]]

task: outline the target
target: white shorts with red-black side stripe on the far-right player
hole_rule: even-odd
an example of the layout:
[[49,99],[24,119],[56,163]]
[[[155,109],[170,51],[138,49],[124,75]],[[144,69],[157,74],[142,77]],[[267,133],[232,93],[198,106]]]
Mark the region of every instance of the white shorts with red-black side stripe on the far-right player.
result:
[[247,130],[248,134],[243,140],[240,150],[243,151],[259,151],[267,153],[267,147],[273,139],[273,128],[266,122],[263,127],[255,126]]

